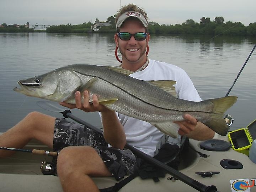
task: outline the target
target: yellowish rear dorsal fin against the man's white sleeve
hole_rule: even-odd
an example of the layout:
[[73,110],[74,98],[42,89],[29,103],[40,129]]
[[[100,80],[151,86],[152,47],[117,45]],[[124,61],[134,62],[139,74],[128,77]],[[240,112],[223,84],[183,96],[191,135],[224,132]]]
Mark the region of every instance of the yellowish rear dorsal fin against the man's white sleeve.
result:
[[176,84],[176,81],[172,80],[158,80],[158,81],[147,81],[151,85],[158,87],[167,93],[170,93],[172,96],[177,97],[176,89],[174,84]]

